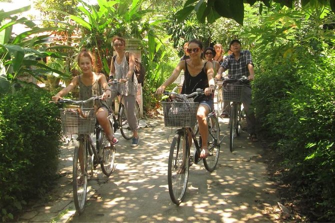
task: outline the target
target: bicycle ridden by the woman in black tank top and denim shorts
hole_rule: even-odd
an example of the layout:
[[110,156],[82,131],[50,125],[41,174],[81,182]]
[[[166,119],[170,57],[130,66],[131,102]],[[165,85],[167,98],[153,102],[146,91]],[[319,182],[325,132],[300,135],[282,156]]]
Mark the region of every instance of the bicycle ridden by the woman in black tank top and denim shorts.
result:
[[[169,95],[172,101],[162,101],[164,125],[181,127],[176,130],[171,142],[171,147],[168,157],[167,182],[170,198],[173,203],[179,205],[186,192],[189,165],[197,164],[201,159],[201,135],[199,142],[193,131],[193,126],[196,123],[196,112],[198,102],[193,102],[191,98],[196,95],[203,94],[203,90],[197,89],[191,94],[177,94],[173,92],[165,92]],[[205,168],[208,171],[213,171],[216,167],[219,151],[220,151],[220,127],[216,117],[216,111],[211,111],[207,117],[208,124],[208,151],[209,156],[202,159]],[[195,149],[193,156],[190,155],[190,145],[193,140]]]

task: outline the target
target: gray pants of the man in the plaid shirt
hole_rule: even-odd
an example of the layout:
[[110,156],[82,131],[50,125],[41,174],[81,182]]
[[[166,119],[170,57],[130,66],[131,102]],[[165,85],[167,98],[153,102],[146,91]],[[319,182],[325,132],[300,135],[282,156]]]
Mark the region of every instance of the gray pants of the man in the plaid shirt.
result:
[[[242,103],[246,115],[246,124],[247,124],[247,132],[249,134],[255,132],[256,126],[256,119],[254,117],[254,109],[252,106],[252,99],[251,99],[251,86],[245,85],[243,87],[243,95],[242,95]],[[224,101],[223,102],[223,110],[226,112],[230,112],[230,102]]]

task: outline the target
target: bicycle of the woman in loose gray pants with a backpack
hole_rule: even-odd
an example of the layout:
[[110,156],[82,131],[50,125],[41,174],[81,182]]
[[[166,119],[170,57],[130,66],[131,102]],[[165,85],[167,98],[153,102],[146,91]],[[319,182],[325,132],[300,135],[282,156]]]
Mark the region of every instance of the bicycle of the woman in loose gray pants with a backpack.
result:
[[[114,79],[110,82],[108,82],[108,85],[111,86],[113,84],[121,83],[117,79]],[[115,89],[111,89],[111,94],[115,94]],[[106,99],[107,104],[111,107],[113,103],[113,97],[108,97]],[[135,103],[135,109],[136,109],[136,118],[137,118],[137,124],[139,123],[139,105],[136,101]],[[125,108],[124,104],[122,102],[122,96],[119,97],[119,105],[118,105],[118,112],[117,116],[114,114],[114,112],[111,113],[111,116],[113,118],[113,128],[114,132],[116,132],[117,129],[120,129],[121,135],[124,139],[131,139],[132,138],[132,130],[130,130],[127,117],[125,115]]]

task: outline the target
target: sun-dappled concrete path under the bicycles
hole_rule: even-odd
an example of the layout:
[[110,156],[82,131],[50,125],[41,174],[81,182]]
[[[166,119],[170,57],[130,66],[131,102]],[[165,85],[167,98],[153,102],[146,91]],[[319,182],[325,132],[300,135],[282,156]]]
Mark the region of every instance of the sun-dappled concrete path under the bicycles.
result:
[[[221,135],[228,135],[228,119],[220,118]],[[20,222],[273,222],[271,214],[279,198],[267,179],[261,142],[251,142],[246,132],[235,140],[231,153],[228,137],[221,144],[217,169],[205,170],[202,162],[189,171],[184,202],[171,202],[167,187],[167,159],[173,137],[162,120],[146,120],[139,130],[138,147],[130,147],[117,132],[116,169],[105,177],[100,168],[88,181],[89,194],[82,214],[72,201],[72,153],[74,143],[61,148],[61,177],[49,200],[37,201]],[[169,141],[167,140],[169,139]]]

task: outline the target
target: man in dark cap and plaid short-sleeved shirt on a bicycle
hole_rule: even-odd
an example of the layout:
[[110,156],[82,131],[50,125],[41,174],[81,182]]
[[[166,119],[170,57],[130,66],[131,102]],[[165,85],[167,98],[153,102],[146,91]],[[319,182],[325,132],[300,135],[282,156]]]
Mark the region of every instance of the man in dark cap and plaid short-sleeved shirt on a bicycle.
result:
[[[242,76],[247,76],[251,81],[254,78],[253,63],[251,58],[251,53],[249,50],[241,50],[241,43],[238,39],[233,39],[229,44],[229,49],[232,53],[226,56],[218,69],[216,78],[221,78],[222,73],[228,70],[228,77],[232,79],[239,79]],[[255,133],[255,117],[254,111],[251,107],[251,85],[244,84],[243,97],[242,97],[243,107],[246,113],[246,123],[247,131],[250,134],[250,139],[252,141],[258,141],[257,135]],[[229,102],[223,103],[223,111],[221,116],[228,117]]]

